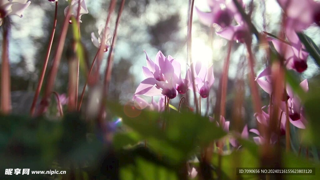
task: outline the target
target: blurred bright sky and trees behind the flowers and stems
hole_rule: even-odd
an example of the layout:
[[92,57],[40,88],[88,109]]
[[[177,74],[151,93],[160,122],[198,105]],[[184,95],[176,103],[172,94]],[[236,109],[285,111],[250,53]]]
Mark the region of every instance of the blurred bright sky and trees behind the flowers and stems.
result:
[[[88,61],[91,63],[97,48],[91,42],[91,33],[98,35],[98,27],[105,24],[108,15],[110,0],[86,0],[88,14],[81,17],[80,25],[81,39],[85,46]],[[120,1],[117,1],[117,8],[110,22],[110,29],[114,31],[116,13]],[[281,20],[280,6],[276,0],[253,1],[244,0],[246,10],[252,8],[252,21],[258,31],[267,31],[274,35],[279,32]],[[143,50],[146,50],[149,57],[155,60],[156,53],[161,50],[164,55],[171,55],[181,64],[182,74],[188,68],[187,65],[187,21],[188,6],[186,0],[127,0],[124,12],[121,17],[118,29],[118,37],[115,47],[114,67],[112,70],[111,85],[109,89],[110,100],[120,103],[132,101],[136,87],[145,78],[141,68],[146,65],[146,57]],[[250,5],[249,5],[250,4]],[[64,9],[67,2],[60,0],[58,6],[58,23],[56,35],[52,45],[52,53],[49,59],[50,68],[57,41],[65,18]],[[202,11],[210,11],[206,0],[196,0],[195,6]],[[54,16],[54,3],[47,0],[32,0],[30,6],[24,11],[23,17],[12,17],[12,32],[10,37],[10,63],[11,63],[11,90],[13,113],[27,114],[29,112],[33,94],[41,68],[44,63],[45,53],[49,42]],[[316,45],[320,45],[319,28],[316,26],[306,30]],[[218,37],[214,29],[206,27],[197,20],[194,13],[192,28],[192,54],[193,61],[202,61],[206,64],[213,63],[215,82],[208,99],[203,101],[202,112],[212,115],[212,107],[215,105],[216,92],[219,85],[219,78],[227,54],[227,40]],[[2,39],[2,36],[0,36]],[[71,28],[69,28],[65,50],[70,46],[72,39]],[[254,39],[255,40],[255,39]],[[254,42],[253,51],[256,57],[256,73],[258,74],[265,67],[266,57],[263,50],[259,50]],[[237,90],[236,80],[246,79],[246,51],[241,43],[234,43],[229,68],[228,92],[227,92],[227,117],[231,117],[234,95]],[[105,53],[101,74],[104,73],[108,53]],[[301,80],[316,78],[319,75],[319,68],[314,60],[308,58],[308,69],[300,75]],[[50,70],[50,69],[48,69]],[[47,70],[47,72],[48,72]],[[84,76],[79,78],[79,94],[84,85]],[[245,81],[246,82],[246,81]],[[45,83],[45,82],[44,82]],[[58,77],[55,82],[55,91],[59,94],[67,93],[68,88],[68,64],[65,53],[63,53],[59,68]],[[189,91],[190,93],[190,91]],[[247,122],[254,119],[250,100],[250,91],[246,84],[246,100],[244,104],[244,119]],[[261,98],[268,99],[262,89]],[[190,99],[192,93],[190,93]],[[147,99],[148,100],[148,99]],[[171,103],[177,107],[179,98]],[[190,102],[190,104],[193,104]],[[263,103],[263,105],[267,105]],[[207,109],[207,110],[206,110]],[[229,113],[230,112],[230,113]],[[252,121],[254,123],[254,121]],[[249,124],[253,126],[254,124]]]

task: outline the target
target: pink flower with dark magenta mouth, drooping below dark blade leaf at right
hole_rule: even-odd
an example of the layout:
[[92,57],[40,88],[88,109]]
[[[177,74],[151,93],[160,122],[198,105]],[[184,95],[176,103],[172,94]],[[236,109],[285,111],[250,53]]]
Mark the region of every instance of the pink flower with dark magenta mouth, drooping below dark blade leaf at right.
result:
[[309,53],[303,50],[300,41],[296,41],[291,46],[277,39],[270,38],[270,40],[276,51],[283,56],[287,69],[293,69],[301,73],[308,68],[307,58]]

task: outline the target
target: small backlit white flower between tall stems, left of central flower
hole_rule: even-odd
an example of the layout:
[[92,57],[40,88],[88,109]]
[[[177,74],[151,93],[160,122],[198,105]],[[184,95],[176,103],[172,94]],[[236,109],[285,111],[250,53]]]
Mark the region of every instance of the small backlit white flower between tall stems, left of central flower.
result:
[[[94,32],[91,33],[91,41],[93,45],[96,46],[97,48],[100,48],[100,45],[103,39],[102,36],[103,36],[104,30],[105,30],[104,25],[101,24],[98,29],[98,35],[99,35],[98,38],[94,35]],[[108,51],[108,47],[111,45],[112,37],[113,37],[113,33],[109,29],[109,27],[107,27],[106,34],[105,34],[105,42],[103,45],[105,52]]]

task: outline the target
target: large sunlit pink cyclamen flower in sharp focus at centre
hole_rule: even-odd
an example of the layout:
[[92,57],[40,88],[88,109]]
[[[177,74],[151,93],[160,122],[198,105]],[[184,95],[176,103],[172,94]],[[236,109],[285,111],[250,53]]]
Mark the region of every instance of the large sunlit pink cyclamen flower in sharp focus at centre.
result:
[[179,81],[177,73],[180,67],[177,67],[176,60],[170,55],[165,57],[161,51],[156,55],[156,62],[152,61],[147,53],[146,57],[147,67],[143,66],[142,70],[147,78],[137,87],[132,99],[139,95],[164,95],[170,99],[175,98],[178,93],[176,84]]

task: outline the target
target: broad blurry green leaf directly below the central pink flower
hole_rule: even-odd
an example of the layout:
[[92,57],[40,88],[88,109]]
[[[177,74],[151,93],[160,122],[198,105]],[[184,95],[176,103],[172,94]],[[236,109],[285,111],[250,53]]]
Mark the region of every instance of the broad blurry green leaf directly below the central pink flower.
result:
[[[131,127],[142,139],[146,139],[148,147],[169,158],[174,164],[187,160],[198,146],[205,147],[226,135],[221,128],[209,122],[208,118],[192,112],[172,111],[160,114],[142,110],[137,117],[129,117],[122,106],[110,104],[108,107],[114,114],[122,117],[125,125]],[[164,119],[166,128],[162,130]]]

